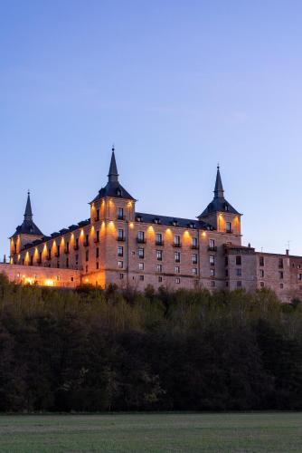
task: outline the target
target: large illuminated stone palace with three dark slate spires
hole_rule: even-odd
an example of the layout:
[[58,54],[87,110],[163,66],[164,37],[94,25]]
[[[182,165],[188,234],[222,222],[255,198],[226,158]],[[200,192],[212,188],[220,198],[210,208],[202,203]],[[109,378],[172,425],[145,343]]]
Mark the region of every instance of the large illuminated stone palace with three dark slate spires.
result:
[[10,238],[10,264],[0,272],[19,283],[62,287],[267,286],[283,302],[302,297],[302,257],[241,246],[241,213],[224,198],[219,167],[213,193],[195,218],[137,212],[136,198],[119,182],[112,149],[108,182],[90,201],[87,220],[45,236],[33,222],[28,194],[24,222]]

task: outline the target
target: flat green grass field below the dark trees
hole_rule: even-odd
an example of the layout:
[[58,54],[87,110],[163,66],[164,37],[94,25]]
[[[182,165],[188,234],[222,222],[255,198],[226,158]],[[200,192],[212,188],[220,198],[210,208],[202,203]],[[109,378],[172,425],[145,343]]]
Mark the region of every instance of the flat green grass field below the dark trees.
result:
[[1,416],[1,452],[302,451],[302,413]]

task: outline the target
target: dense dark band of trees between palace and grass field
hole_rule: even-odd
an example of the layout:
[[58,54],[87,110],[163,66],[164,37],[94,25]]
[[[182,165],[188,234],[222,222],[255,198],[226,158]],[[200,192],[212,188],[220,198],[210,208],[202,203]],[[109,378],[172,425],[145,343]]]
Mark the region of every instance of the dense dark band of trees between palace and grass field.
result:
[[0,275],[0,410],[301,410],[302,304]]

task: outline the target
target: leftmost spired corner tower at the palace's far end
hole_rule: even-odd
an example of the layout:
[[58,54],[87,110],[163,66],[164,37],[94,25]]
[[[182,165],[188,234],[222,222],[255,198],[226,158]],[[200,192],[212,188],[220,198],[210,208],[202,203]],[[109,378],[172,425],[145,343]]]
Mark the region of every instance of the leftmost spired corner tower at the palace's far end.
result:
[[31,203],[31,194],[27,193],[27,201],[24,212],[24,221],[16,227],[14,235],[10,237],[10,253],[11,256],[20,252],[25,244],[31,243],[37,239],[41,239],[44,235],[42,231],[33,222],[33,210]]

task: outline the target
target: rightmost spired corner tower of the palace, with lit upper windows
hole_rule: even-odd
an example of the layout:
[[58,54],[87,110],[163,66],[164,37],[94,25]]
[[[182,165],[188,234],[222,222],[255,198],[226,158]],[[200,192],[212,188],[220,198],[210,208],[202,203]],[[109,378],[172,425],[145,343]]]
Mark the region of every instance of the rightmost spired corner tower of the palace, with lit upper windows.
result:
[[212,225],[219,233],[241,236],[241,213],[224,198],[219,165],[217,166],[214,198],[197,218]]

